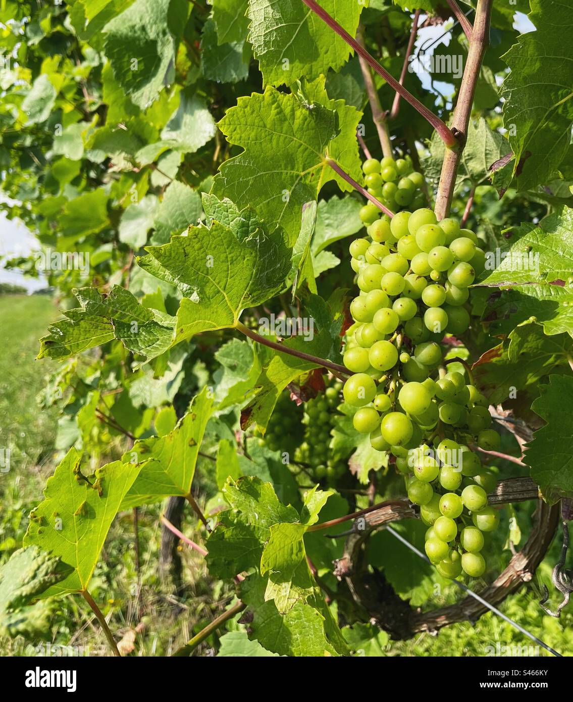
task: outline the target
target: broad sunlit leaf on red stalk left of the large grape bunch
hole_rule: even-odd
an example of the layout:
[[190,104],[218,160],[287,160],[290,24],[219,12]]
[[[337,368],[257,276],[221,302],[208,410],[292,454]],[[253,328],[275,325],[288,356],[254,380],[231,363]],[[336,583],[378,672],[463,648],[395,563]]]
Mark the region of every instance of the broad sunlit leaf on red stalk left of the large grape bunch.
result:
[[187,236],[147,246],[149,256],[137,260],[184,296],[175,343],[201,331],[235,326],[245,307],[264,303],[283,288],[290,249],[282,232],[247,231],[239,220],[231,227],[216,220],[210,227],[189,227]]

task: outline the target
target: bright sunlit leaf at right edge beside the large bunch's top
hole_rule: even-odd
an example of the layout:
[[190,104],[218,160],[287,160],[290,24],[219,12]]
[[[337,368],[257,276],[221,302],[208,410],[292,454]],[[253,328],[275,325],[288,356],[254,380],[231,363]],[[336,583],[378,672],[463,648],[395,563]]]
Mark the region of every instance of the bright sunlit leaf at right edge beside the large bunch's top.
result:
[[511,246],[499,260],[495,251],[487,253],[485,274],[476,283],[504,288],[494,307],[487,307],[490,331],[534,316],[547,334],[573,336],[573,209],[562,206],[537,225],[525,223],[505,234]]

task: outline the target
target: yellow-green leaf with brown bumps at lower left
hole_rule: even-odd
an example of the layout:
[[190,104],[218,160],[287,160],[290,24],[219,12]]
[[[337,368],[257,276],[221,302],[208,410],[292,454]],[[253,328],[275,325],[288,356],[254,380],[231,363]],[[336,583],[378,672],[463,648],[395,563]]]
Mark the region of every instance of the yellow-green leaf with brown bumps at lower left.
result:
[[85,477],[80,463],[81,454],[69,449],[30,515],[24,545],[37,545],[72,568],[43,596],[88,589],[109,527],[140,472],[140,465],[115,461]]

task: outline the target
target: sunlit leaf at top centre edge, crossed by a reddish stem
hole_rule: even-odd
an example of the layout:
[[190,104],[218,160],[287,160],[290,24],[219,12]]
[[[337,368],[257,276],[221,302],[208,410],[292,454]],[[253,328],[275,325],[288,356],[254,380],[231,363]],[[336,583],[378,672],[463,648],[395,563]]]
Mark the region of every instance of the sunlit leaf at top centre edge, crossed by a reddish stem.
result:
[[[356,37],[363,4],[322,0],[321,7]],[[338,70],[351,55],[348,44],[299,0],[249,0],[249,41],[265,84],[292,85]]]

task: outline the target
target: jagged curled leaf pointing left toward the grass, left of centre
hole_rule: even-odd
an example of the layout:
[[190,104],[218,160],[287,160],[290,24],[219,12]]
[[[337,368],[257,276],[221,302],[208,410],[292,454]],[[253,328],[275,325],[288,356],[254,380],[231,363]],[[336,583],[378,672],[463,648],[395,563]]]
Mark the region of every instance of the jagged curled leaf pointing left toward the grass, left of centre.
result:
[[74,293],[81,307],[67,310],[64,319],[50,324],[48,334],[40,339],[39,359],[67,358],[114,338],[147,359],[161,355],[170,347],[173,317],[142,307],[119,285],[107,296],[95,288],[80,288]]

